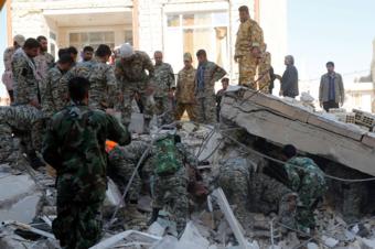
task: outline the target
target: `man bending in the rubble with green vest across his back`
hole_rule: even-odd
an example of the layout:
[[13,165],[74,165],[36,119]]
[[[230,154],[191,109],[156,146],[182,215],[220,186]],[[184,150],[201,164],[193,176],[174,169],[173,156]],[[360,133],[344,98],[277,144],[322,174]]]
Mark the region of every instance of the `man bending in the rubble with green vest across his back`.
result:
[[189,216],[189,180],[184,164],[194,166],[196,160],[186,152],[180,136],[171,133],[163,134],[156,141],[151,160],[156,180],[149,225],[158,219],[159,210],[168,206],[167,210],[172,215],[172,220],[176,223],[176,231],[181,235]]

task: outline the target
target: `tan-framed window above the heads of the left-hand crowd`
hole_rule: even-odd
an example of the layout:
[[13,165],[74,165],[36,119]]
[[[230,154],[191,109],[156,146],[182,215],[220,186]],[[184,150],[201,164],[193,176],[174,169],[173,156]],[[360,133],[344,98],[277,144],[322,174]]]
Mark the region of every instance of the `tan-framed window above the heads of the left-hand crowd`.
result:
[[110,48],[115,47],[115,32],[72,32],[69,33],[69,45],[78,51],[84,46],[93,46],[96,50],[100,44],[106,44]]

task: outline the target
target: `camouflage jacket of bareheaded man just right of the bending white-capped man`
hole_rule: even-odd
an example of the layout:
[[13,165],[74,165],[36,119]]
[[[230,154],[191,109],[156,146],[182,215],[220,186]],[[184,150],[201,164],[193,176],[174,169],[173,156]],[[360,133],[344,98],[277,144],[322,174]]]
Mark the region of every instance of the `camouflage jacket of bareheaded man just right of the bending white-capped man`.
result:
[[172,66],[168,63],[154,66],[153,85],[156,97],[167,97],[168,91],[175,86]]

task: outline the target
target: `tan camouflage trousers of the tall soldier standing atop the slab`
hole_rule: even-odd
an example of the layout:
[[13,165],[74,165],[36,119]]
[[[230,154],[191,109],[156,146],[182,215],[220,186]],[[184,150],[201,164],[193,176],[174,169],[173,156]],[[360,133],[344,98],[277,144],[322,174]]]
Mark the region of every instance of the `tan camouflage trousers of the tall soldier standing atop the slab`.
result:
[[243,55],[238,59],[239,79],[238,85],[257,89],[255,75],[257,73],[257,59],[253,55]]

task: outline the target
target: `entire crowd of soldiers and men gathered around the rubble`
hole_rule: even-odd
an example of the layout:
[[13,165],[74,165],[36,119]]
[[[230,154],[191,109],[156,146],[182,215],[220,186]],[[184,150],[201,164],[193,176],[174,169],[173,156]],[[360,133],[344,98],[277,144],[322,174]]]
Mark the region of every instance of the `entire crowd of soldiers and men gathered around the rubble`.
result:
[[[279,78],[281,96],[298,96],[298,72],[293,57],[286,56],[287,69],[282,77],[275,75],[261,28],[250,19],[247,7],[239,8],[239,17],[235,47],[235,61],[239,65],[238,84],[271,94],[274,80]],[[96,50],[84,47],[82,62],[77,62],[78,51],[72,46],[60,50],[55,62],[47,53],[46,37],[25,40],[22,35],[14,36],[13,46],[4,53],[3,75],[11,106],[1,108],[1,121],[6,121],[12,132],[21,138],[33,167],[44,165],[39,156],[41,152],[43,160],[57,172],[57,218],[53,221],[53,231],[63,247],[88,248],[100,239],[100,208],[107,174],[124,191],[125,183],[136,169],[135,162],[148,147],[131,142],[128,127],[133,101],[143,113],[146,127],[153,116],[161,118],[162,123],[170,123],[180,120],[185,111],[195,122],[218,121],[221,101],[229,79],[225,77],[224,68],[207,59],[204,50],[199,50],[195,55],[197,68],[193,67],[192,54],[185,53],[184,67],[175,79],[171,65],[163,62],[160,51],[154,52],[153,64],[147,53],[135,51],[128,43],[116,51],[101,44]],[[329,73],[322,77],[320,100],[324,108],[333,108],[343,101],[343,84],[341,76],[334,74],[333,63],[328,66]],[[214,87],[218,80],[223,89],[215,94]],[[120,120],[115,118],[115,112],[121,113]],[[286,160],[292,160],[291,164],[304,167],[308,177],[292,166],[287,167],[292,182],[281,187],[286,190],[286,198],[278,196],[275,202],[280,206],[276,205],[275,209],[279,209],[281,216],[289,213],[291,216],[288,217],[294,217],[297,203],[292,199],[294,195],[302,194],[307,215],[301,215],[300,220],[310,218],[302,225],[312,228],[313,205],[323,194],[318,190],[324,188],[324,178],[321,181],[322,173],[311,160],[296,158],[294,148],[287,148],[285,154],[288,155]],[[138,215],[135,209],[141,182],[148,182],[153,175],[153,213],[149,224],[158,218],[159,210],[167,203],[165,193],[171,192],[168,198],[172,199],[169,203],[173,203],[172,215],[181,234],[189,216],[185,165],[194,167],[197,159],[184,148],[176,134],[169,133],[157,139],[150,156],[150,166],[143,167],[146,172],[141,175],[136,174],[126,197],[127,214]],[[229,170],[232,173],[237,171]],[[240,177],[249,180],[250,170],[243,172]],[[239,180],[231,177],[238,176],[232,173],[223,173],[218,180],[226,192],[231,192]],[[229,178],[231,184],[223,177]],[[321,184],[311,185],[315,178]],[[255,182],[259,178],[255,177]],[[250,192],[247,187],[235,188],[233,196],[238,195],[239,191],[243,194]],[[247,199],[246,193],[244,198]],[[240,198],[238,205],[243,201]]]

